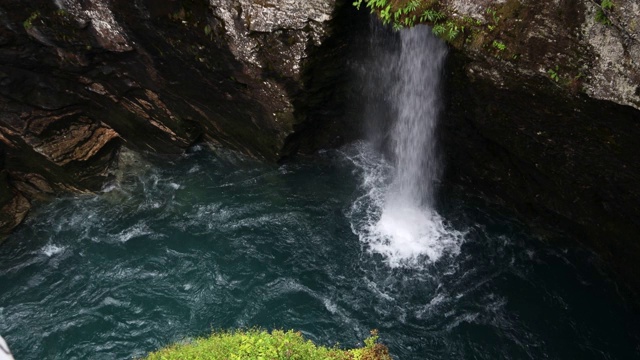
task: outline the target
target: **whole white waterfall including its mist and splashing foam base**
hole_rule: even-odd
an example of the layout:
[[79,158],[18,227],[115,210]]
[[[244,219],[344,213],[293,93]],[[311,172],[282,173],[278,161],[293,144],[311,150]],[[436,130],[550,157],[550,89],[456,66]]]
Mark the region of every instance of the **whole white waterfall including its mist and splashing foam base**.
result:
[[377,36],[383,39],[372,40],[373,59],[364,69],[365,116],[372,138],[383,139],[389,156],[384,160],[369,148],[355,161],[364,170],[366,195],[354,203],[352,228],[391,266],[432,263],[457,253],[462,238],[434,210],[435,130],[447,49],[426,26],[401,30],[392,43],[388,34]]

